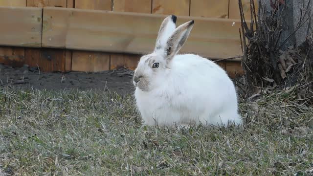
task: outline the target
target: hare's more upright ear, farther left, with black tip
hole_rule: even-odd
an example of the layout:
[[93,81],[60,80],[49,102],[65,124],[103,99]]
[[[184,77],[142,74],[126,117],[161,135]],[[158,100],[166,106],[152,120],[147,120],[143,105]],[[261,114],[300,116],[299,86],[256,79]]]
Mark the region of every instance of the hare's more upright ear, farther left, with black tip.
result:
[[176,28],[176,19],[177,17],[175,15],[170,15],[163,20],[158,31],[155,52],[158,50],[164,51],[167,39],[172,35]]

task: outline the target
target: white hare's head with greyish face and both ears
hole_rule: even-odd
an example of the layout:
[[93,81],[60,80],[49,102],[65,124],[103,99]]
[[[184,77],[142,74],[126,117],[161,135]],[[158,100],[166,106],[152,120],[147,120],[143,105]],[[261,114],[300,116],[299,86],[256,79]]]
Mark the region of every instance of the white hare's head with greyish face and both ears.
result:
[[170,72],[171,61],[186,42],[194,21],[181,24],[176,28],[176,16],[170,15],[164,19],[153,53],[140,58],[134,71],[134,86],[142,91],[150,91],[162,84]]

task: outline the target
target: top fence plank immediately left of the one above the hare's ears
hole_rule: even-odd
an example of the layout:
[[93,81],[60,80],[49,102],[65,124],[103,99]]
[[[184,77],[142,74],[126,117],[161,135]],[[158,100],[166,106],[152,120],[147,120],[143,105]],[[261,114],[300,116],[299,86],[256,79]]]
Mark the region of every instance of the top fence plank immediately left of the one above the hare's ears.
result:
[[114,0],[113,11],[151,13],[152,0]]

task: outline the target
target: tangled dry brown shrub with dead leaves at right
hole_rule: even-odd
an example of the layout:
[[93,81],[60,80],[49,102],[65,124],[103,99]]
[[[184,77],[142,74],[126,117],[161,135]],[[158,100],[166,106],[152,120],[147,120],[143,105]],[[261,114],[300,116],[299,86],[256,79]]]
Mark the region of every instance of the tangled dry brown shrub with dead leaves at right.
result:
[[[311,0],[309,1],[309,3]],[[264,1],[259,0],[258,14],[255,10],[254,0],[250,0],[251,21],[246,24],[242,2],[239,0],[241,11],[242,30],[240,31],[243,44],[242,65],[245,70],[246,97],[262,92],[261,88],[286,89],[294,88],[298,100],[313,102],[313,37],[306,37],[306,41],[294,47],[286,47],[286,43],[294,37],[296,30],[307,23],[312,16],[304,14],[300,17],[295,30],[287,38],[283,23],[286,0],[271,0],[271,11],[268,12]],[[308,13],[308,8],[305,13]],[[255,23],[256,22],[256,23]],[[254,29],[255,27],[255,29]],[[284,33],[285,32],[285,33]]]

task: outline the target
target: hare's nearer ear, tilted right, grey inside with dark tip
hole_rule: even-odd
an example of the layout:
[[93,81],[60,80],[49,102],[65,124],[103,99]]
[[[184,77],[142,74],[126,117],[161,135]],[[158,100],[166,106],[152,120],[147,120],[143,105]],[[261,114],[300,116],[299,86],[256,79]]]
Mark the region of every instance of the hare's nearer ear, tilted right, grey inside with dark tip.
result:
[[186,42],[193,26],[193,20],[181,24],[167,40],[164,50],[167,63],[170,62],[173,57],[179,52],[179,49]]

